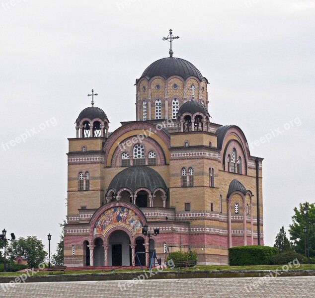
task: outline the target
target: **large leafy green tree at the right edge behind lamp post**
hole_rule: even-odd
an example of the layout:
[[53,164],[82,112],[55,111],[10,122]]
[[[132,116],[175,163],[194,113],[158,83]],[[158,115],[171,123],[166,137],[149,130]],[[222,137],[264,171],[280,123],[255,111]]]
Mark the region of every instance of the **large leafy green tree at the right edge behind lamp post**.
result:
[[[308,221],[303,213],[303,208],[308,204]],[[292,240],[292,248],[305,255],[305,239],[306,234],[303,227],[309,227],[309,249],[310,257],[315,256],[315,205],[314,203],[300,203],[299,208],[294,208],[295,215],[292,217],[293,224],[289,225],[290,240]]]

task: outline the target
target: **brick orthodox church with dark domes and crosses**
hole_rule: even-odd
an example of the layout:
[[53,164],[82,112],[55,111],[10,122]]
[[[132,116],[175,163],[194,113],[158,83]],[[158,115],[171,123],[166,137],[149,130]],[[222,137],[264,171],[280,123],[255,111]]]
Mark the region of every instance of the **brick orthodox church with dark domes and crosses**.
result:
[[[195,250],[198,264],[228,264],[229,247],[263,244],[263,158],[238,126],[212,122],[208,79],[173,57],[177,38],[170,30],[170,57],[136,79],[136,121],[109,132],[93,90],[77,117],[65,266],[130,266],[137,252],[148,264],[149,250],[163,261],[176,245]],[[149,241],[143,226],[159,234]]]

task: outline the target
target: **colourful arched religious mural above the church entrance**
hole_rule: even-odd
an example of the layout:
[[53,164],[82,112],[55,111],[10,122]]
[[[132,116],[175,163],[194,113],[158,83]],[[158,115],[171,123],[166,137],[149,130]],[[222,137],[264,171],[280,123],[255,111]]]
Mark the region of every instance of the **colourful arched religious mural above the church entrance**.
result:
[[94,235],[104,235],[115,225],[127,227],[133,235],[142,232],[142,222],[139,216],[127,207],[114,207],[103,212],[94,226]]

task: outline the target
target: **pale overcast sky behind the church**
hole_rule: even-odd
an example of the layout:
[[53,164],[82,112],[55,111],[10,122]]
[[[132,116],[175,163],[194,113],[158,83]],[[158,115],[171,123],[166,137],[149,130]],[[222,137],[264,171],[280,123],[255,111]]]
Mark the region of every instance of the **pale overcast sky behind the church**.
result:
[[[212,121],[239,126],[251,154],[265,158],[265,244],[288,228],[294,207],[314,202],[315,1],[0,5],[0,229],[45,244],[51,233],[55,249],[67,213],[67,138],[76,136],[74,122],[90,105],[86,95],[98,93],[95,106],[110,131],[135,120],[135,80],[168,56],[162,37],[170,28],[180,36],[174,57],[210,82]],[[5,145],[17,137],[24,141]],[[269,141],[256,141],[261,137]]]

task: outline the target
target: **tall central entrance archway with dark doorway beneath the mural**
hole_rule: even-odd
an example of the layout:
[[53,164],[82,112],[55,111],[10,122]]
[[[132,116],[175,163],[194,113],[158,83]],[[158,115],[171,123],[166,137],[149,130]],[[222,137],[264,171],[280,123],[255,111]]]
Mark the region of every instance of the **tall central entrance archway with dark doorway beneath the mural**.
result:
[[123,230],[114,231],[108,239],[108,266],[130,266],[131,246],[129,235]]

